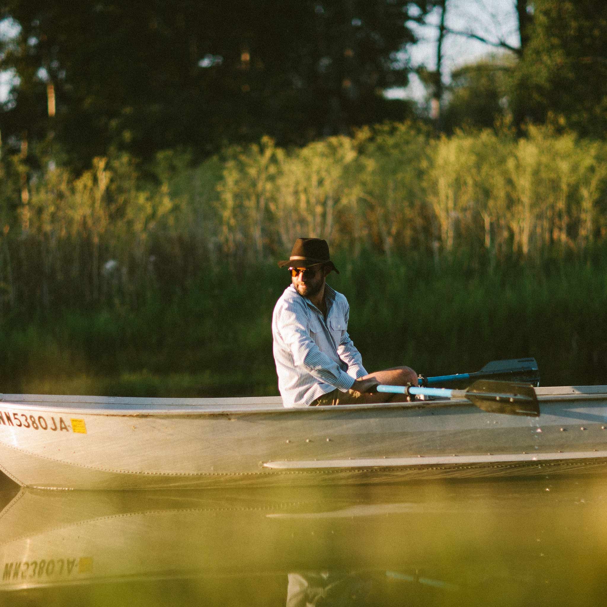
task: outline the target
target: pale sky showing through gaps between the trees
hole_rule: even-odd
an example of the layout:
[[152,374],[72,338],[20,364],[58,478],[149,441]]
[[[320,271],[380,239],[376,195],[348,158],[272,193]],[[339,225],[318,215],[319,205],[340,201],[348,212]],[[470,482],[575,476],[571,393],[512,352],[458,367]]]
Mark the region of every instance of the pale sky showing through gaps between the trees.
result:
[[[483,38],[497,41],[503,39],[512,46],[518,46],[517,16],[515,0],[448,0],[447,27],[461,32],[473,32]],[[410,24],[419,41],[407,49],[412,67],[426,66],[436,69],[436,38],[438,36],[439,12],[432,13],[427,21],[430,25]],[[18,26],[8,20],[0,22],[0,38],[18,33]],[[495,48],[466,36],[448,35],[443,42],[444,73],[447,81],[449,73],[458,67],[495,52]],[[13,75],[0,72],[0,102],[7,98]],[[426,90],[419,78],[413,74],[406,89],[391,89],[387,97],[409,98],[423,103]]]

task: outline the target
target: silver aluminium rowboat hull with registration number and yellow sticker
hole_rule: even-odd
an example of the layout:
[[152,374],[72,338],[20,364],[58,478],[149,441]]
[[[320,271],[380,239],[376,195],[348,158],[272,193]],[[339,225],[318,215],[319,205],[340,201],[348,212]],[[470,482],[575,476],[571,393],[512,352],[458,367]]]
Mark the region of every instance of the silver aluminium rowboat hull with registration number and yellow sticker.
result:
[[293,410],[254,399],[166,404],[13,395],[0,402],[0,468],[22,486],[46,489],[386,483],[603,469],[607,389],[582,389],[540,388],[540,418],[486,413],[466,401]]

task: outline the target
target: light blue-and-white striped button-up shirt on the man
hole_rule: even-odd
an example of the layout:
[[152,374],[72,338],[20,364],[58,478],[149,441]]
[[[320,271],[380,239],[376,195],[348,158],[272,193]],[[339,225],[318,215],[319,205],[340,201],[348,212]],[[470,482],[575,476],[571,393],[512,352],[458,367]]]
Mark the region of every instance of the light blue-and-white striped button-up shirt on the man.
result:
[[278,388],[285,407],[305,407],[367,375],[348,335],[348,300],[325,285],[327,317],[293,285],[274,307],[272,336]]

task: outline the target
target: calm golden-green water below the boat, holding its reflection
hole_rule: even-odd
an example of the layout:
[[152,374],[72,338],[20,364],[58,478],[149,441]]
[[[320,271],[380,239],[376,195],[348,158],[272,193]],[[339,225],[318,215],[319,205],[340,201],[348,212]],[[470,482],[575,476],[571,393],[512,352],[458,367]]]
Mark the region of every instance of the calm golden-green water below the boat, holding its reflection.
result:
[[595,476],[10,497],[2,605],[599,605],[607,591]]

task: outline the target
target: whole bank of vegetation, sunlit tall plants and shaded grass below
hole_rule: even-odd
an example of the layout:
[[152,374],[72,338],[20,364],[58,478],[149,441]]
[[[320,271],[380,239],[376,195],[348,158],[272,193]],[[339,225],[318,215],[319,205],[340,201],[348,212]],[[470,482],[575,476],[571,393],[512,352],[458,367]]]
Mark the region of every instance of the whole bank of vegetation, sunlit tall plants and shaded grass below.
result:
[[126,155],[28,180],[0,164],[2,391],[276,393],[276,267],[331,243],[369,370],[535,356],[543,383],[605,382],[607,145],[549,127],[269,138],[192,168]]

